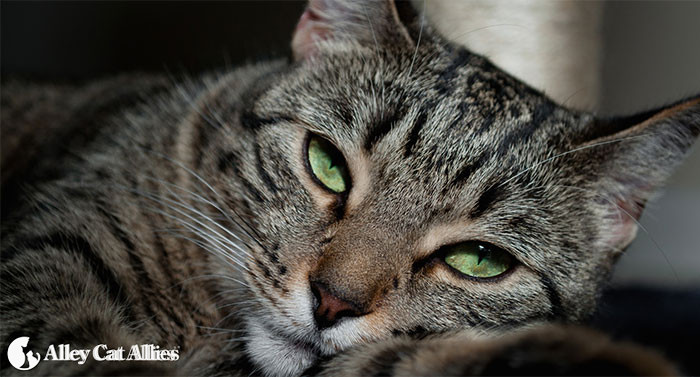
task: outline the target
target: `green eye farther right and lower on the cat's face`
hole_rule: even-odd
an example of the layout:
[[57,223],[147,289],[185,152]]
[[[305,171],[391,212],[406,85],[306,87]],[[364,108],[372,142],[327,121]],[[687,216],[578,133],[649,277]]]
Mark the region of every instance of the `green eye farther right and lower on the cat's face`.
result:
[[445,263],[467,276],[491,278],[508,271],[513,265],[513,256],[486,243],[463,242],[449,247]]

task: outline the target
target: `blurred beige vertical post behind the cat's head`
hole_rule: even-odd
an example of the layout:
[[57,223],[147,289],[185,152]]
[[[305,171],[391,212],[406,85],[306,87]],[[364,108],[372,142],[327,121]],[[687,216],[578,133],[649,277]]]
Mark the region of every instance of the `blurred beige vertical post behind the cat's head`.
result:
[[600,1],[414,0],[449,39],[569,107],[595,110]]

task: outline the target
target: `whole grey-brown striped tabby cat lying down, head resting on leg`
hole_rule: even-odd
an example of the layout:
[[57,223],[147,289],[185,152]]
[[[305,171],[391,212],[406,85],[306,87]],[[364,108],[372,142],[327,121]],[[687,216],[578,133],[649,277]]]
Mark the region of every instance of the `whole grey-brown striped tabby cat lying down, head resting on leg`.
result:
[[596,119],[388,0],[312,0],[292,46],[4,85],[3,189],[31,187],[3,214],[4,375],[21,336],[179,352],[34,374],[675,373],[558,323],[595,308],[700,99]]

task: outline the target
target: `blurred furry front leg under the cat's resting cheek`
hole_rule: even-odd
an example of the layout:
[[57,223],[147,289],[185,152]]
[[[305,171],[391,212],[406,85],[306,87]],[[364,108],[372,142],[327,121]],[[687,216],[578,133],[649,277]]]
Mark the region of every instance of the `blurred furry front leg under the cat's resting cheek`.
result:
[[677,375],[659,354],[600,332],[547,325],[484,336],[476,332],[399,337],[355,348],[308,370],[321,376]]

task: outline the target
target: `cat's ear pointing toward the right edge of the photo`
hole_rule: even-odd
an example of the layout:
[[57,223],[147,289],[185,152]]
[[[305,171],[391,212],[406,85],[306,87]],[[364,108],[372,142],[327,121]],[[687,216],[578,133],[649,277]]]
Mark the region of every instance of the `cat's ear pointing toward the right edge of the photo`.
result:
[[700,134],[700,96],[588,128],[579,160],[601,193],[602,242],[614,251],[635,237],[637,219]]

